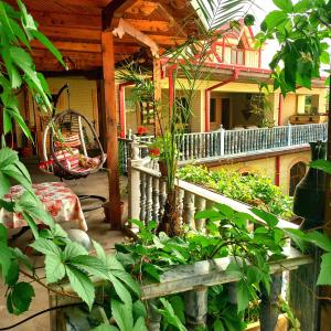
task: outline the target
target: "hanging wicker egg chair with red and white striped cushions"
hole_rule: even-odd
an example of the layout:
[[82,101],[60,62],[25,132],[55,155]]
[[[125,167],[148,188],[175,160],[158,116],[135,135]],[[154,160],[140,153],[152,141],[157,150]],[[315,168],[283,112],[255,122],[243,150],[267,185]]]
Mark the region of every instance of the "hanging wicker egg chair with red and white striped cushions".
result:
[[[55,96],[54,105],[65,88],[70,105],[67,84]],[[56,115],[53,113],[44,129],[42,147],[43,161],[40,162],[39,169],[58,177],[61,181],[86,178],[98,172],[106,161],[106,154],[93,124],[86,116],[71,108]],[[78,197],[79,200],[92,199],[106,202],[106,199],[99,195],[78,195]],[[87,212],[99,207],[102,205],[83,207],[83,211]]]

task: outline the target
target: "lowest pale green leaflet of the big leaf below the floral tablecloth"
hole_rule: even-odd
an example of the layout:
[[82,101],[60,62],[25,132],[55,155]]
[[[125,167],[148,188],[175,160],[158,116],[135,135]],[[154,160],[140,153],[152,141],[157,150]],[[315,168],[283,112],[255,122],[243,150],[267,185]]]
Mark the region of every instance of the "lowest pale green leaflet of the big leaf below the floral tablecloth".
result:
[[84,273],[73,266],[65,266],[65,270],[73,290],[87,303],[90,310],[95,298],[93,282]]

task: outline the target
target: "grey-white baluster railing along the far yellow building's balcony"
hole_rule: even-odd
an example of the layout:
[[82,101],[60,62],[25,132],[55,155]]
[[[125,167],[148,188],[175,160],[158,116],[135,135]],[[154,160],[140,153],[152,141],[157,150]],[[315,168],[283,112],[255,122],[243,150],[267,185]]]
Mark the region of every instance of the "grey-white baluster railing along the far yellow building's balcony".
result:
[[[238,154],[256,154],[269,150],[281,150],[325,140],[328,124],[279,126],[274,128],[234,129],[213,132],[184,134],[177,138],[181,162],[213,160]],[[120,162],[127,172],[128,149],[132,139],[119,139]],[[142,149],[153,141],[152,136],[137,137]]]

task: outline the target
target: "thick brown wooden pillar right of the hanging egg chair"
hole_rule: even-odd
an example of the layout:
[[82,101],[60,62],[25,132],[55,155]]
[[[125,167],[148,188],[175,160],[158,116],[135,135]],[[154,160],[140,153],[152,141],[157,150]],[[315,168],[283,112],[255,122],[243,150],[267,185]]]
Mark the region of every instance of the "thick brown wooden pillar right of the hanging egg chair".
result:
[[106,137],[107,137],[107,169],[109,185],[109,215],[111,229],[121,228],[119,174],[118,174],[118,142],[116,120],[116,88],[115,88],[115,61],[114,40],[110,31],[102,32]]

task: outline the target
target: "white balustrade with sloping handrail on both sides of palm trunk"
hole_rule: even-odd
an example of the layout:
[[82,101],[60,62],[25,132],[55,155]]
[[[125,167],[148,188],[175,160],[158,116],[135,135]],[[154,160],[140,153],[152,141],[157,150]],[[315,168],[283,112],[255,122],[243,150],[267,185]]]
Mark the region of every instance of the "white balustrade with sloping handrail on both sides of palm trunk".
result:
[[[160,222],[167,200],[164,179],[159,171],[148,168],[146,160],[131,160],[130,164],[129,218],[140,218],[146,224],[150,221]],[[192,229],[204,231],[205,220],[195,220],[194,215],[215,203],[253,215],[248,205],[182,180],[175,181],[174,191],[180,221]],[[279,225],[297,227],[282,220]]]

